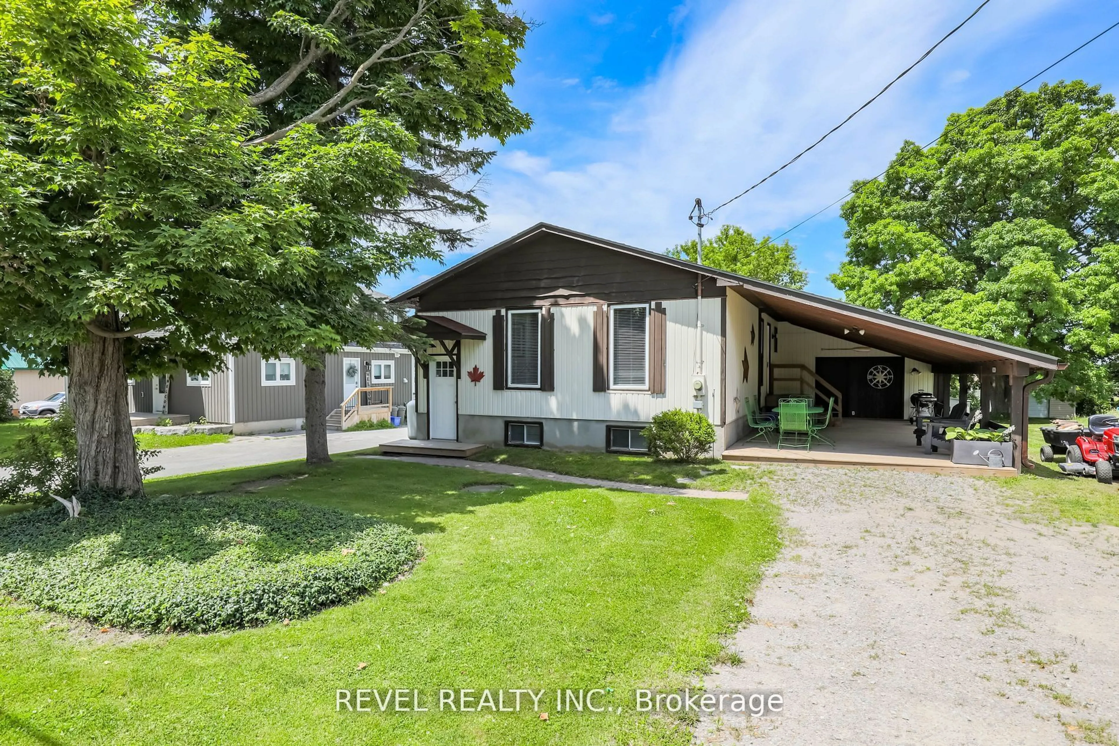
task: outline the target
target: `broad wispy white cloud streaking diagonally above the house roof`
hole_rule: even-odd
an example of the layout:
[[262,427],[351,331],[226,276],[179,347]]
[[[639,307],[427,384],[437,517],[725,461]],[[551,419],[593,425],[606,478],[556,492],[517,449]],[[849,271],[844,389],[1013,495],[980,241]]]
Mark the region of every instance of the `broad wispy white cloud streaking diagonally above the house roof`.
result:
[[[844,130],[720,211],[715,228],[723,221],[758,233],[789,226],[839,197],[852,179],[882,170],[906,138],[931,139],[959,107],[938,96],[959,92],[922,82],[958,75],[1055,2],[1023,0],[980,12]],[[481,242],[539,220],[652,249],[687,239],[695,197],[714,207],[769,173],[972,7],[972,0],[732,2],[694,28],[648,85],[618,91],[606,131],[553,141],[554,153],[515,150],[499,158],[488,174],[490,220]],[[685,3],[674,15],[687,11]],[[1002,84],[993,82],[991,89]],[[582,154],[577,166],[552,166],[570,163],[571,153]]]

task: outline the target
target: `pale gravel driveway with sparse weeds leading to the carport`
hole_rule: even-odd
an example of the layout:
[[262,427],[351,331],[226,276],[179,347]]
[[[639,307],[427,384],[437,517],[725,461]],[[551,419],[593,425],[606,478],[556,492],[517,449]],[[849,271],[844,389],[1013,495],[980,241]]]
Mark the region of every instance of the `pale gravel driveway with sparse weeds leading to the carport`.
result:
[[784,712],[697,743],[1117,743],[1119,530],[1024,523],[993,481],[772,474],[787,545],[705,684]]

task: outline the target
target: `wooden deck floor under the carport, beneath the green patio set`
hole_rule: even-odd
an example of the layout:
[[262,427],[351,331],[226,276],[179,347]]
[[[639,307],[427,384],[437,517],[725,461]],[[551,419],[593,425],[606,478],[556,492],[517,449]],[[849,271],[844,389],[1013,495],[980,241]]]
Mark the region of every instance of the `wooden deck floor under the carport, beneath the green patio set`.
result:
[[772,445],[767,445],[762,438],[750,442],[743,440],[724,451],[723,457],[727,461],[867,466],[937,474],[1017,475],[1017,471],[1009,466],[989,469],[953,464],[943,448],[940,453],[927,454],[916,446],[913,426],[905,421],[847,418],[843,426],[829,427],[824,434],[835,441],[835,448],[815,442],[811,451],[789,446],[778,448],[777,434],[773,433],[770,435]]

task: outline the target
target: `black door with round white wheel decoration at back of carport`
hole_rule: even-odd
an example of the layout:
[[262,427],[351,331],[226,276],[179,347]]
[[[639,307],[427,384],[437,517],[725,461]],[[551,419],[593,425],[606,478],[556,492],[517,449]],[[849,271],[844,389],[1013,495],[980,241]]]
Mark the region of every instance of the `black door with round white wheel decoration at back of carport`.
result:
[[844,417],[904,417],[904,358],[816,358],[816,374],[843,391]]

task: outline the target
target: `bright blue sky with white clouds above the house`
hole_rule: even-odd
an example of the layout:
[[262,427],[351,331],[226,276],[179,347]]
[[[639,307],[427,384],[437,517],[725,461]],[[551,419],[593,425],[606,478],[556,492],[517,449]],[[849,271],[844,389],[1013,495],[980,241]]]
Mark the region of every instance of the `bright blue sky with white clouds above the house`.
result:
[[[694,237],[696,197],[717,205],[843,120],[962,20],[979,0],[515,2],[538,23],[513,98],[533,129],[486,171],[489,217],[471,251],[386,277],[396,293],[545,220],[664,251]],[[901,143],[1018,85],[1103,28],[1094,0],[993,0],[914,72],[822,145],[716,215],[775,235],[878,173]],[[1119,93],[1119,29],[1044,79]],[[1036,86],[1036,83],[1034,84]],[[838,295],[838,206],[787,236],[809,290]]]

